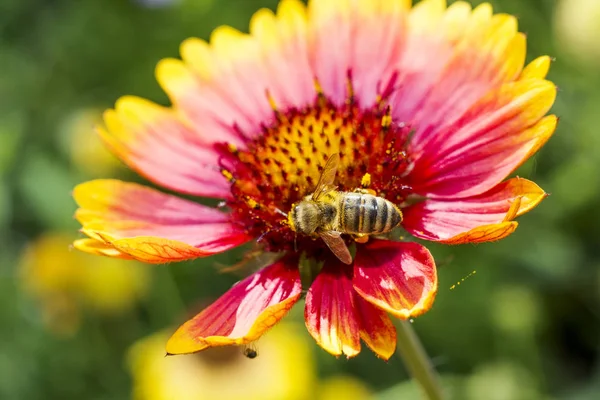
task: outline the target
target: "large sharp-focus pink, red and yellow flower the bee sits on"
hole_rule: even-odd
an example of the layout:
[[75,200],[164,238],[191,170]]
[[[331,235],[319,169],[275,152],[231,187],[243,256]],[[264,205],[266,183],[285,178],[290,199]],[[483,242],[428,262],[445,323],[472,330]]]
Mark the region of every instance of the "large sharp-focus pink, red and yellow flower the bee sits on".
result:
[[[118,180],[87,182],[74,197],[88,238],[75,246],[151,263],[250,241],[282,255],[180,327],[168,353],[253,342],[305,290],[306,326],[325,350],[352,357],[362,339],[388,359],[396,342],[388,313],[406,319],[434,300],[429,251],[371,238],[356,243],[348,266],[321,239],[294,232],[286,213],[339,154],[338,190],[370,183],[417,238],[459,244],[511,234],[513,219],[546,194],[504,179],[557,122],[544,117],[556,95],[544,79],[550,59],[524,68],[525,48],[514,17],[441,0],[412,8],[405,0],[282,0],[276,14],[252,17],[250,34],[219,27],[210,43],[188,39],[183,61],[157,67],[173,106],[123,97],[99,132],[154,183],[224,199],[228,209]],[[316,277],[303,282],[307,270]]]

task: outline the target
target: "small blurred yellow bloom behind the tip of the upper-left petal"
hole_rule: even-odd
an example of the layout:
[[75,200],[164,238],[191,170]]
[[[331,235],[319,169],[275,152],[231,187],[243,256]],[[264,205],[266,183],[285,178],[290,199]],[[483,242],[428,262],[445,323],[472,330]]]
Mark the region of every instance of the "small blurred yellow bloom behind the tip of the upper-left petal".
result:
[[91,177],[112,175],[120,161],[100,136],[93,134],[102,121],[102,110],[84,108],[71,113],[61,124],[63,147],[73,166]]

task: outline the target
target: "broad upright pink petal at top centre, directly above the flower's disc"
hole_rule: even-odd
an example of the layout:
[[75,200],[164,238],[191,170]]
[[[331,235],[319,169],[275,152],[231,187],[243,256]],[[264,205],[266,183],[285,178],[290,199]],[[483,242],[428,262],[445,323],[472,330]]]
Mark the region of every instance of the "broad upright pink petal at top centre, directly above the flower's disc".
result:
[[405,0],[309,2],[311,65],[335,104],[350,95],[349,78],[353,95],[365,107],[390,85],[404,47],[409,6]]

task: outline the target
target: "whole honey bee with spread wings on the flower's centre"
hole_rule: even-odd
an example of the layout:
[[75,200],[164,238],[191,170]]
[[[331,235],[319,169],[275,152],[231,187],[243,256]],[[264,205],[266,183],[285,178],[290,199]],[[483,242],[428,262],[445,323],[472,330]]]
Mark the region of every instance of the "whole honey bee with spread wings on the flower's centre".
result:
[[373,190],[337,191],[333,183],[339,163],[338,153],[328,158],[315,191],[292,204],[287,219],[294,232],[319,236],[340,261],[351,264],[352,256],[341,235],[351,234],[356,241],[364,242],[369,235],[397,227],[402,212]]

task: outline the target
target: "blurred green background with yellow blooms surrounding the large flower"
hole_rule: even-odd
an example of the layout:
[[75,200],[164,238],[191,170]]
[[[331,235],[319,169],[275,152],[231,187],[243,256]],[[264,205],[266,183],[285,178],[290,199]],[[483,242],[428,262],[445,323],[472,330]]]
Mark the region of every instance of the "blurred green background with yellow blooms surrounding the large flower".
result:
[[[221,24],[247,30],[276,3],[2,0],[0,399],[419,398],[398,359],[318,348],[301,306],[256,360],[164,359],[165,335],[238,279],[215,266],[239,253],[146,266],[69,250],[72,187],[139,180],[92,133],[101,111],[123,94],[167,104],[159,59]],[[552,196],[501,242],[429,246],[440,290],[414,326],[453,399],[598,399],[600,1],[492,3],[518,16],[529,60],[556,58],[559,128],[519,171]]]

